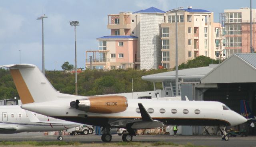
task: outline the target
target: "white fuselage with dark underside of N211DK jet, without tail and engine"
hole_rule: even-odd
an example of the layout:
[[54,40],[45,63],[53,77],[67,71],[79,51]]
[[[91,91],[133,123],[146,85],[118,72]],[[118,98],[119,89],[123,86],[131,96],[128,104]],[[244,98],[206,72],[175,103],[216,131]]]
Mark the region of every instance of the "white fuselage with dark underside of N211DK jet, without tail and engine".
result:
[[[238,125],[246,122],[246,119],[240,114],[232,110],[224,110],[223,106],[225,105],[220,102],[128,99],[128,108],[124,112],[100,114],[70,108],[68,104],[79,98],[81,97],[56,98],[55,101],[50,102],[25,104],[22,108],[54,118],[90,125],[101,125],[99,122],[104,122],[106,121],[104,118],[108,118],[108,122],[104,123],[108,123],[113,127],[124,127],[120,123],[122,120],[136,121],[140,119],[140,112],[136,112],[138,103],[143,104],[152,119],[160,120],[166,124],[217,126]],[[58,104],[58,106],[55,104]],[[150,113],[150,111],[153,112]],[[117,120],[120,121],[117,122]]]

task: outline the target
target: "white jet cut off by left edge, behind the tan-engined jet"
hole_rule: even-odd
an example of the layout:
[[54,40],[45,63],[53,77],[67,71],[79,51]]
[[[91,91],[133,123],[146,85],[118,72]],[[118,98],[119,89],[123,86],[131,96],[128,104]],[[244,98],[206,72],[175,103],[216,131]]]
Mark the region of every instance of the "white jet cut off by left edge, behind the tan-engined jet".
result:
[[[0,133],[12,134],[36,131],[63,131],[77,127],[80,123],[67,122],[56,118],[36,114],[14,106],[0,106]],[[63,137],[58,136],[58,140]]]

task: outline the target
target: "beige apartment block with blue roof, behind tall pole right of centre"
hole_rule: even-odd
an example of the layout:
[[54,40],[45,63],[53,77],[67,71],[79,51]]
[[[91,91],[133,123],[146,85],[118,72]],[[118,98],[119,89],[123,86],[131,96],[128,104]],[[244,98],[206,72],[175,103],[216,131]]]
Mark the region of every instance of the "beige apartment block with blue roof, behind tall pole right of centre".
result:
[[[201,9],[183,7],[177,9],[178,27],[178,64],[186,63],[200,55],[217,59],[221,51],[218,45],[221,41],[216,35],[221,26],[213,21],[213,12]],[[164,14],[162,27],[162,66],[175,66],[175,10]],[[216,47],[217,46],[217,47]]]

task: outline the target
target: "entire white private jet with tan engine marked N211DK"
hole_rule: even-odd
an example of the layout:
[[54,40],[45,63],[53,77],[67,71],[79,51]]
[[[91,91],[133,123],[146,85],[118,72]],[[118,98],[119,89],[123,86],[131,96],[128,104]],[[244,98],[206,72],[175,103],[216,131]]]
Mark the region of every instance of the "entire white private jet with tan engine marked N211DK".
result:
[[[123,141],[136,129],[164,125],[211,125],[223,128],[247,120],[220,102],[127,99],[124,96],[74,96],[56,91],[35,65],[6,65],[22,100],[22,108],[53,118],[102,126],[102,141],[111,141],[110,127],[125,127]],[[228,140],[221,129],[223,139]]]

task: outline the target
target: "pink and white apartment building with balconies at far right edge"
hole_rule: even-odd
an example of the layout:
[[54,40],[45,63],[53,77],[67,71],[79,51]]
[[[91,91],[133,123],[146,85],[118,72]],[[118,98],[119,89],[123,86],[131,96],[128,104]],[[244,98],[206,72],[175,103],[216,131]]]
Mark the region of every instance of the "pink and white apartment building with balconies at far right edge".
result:
[[[250,9],[224,10],[225,12],[225,53],[250,53]],[[256,10],[252,9],[252,47],[256,47]]]

